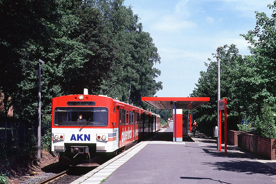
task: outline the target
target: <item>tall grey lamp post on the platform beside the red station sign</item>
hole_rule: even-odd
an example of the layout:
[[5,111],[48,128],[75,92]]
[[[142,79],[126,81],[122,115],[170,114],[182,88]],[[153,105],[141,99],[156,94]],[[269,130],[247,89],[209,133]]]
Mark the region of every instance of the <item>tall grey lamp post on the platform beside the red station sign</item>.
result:
[[219,118],[219,101],[220,101],[220,48],[221,46],[217,47],[217,128],[218,128],[218,137],[217,137],[217,150],[220,150],[220,118]]

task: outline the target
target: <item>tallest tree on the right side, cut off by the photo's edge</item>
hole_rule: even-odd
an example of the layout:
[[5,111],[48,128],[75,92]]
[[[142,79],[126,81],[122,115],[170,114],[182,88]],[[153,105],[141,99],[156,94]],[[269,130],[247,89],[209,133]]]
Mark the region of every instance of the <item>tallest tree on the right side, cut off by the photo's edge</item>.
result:
[[[265,13],[256,11],[256,27],[248,31],[247,34],[241,34],[248,43],[253,59],[259,65],[259,74],[265,79],[264,100],[272,104],[276,102],[276,1],[268,5],[272,9],[271,18]],[[273,105],[272,105],[273,106]],[[260,114],[259,114],[260,115]]]

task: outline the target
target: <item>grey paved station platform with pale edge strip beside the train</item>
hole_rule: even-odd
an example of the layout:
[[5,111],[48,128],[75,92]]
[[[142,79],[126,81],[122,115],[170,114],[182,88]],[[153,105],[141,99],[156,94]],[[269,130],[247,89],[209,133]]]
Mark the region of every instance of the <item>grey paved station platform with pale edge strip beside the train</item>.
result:
[[227,146],[217,151],[214,138],[189,132],[184,142],[172,142],[172,130],[162,129],[71,184],[122,183],[276,183],[276,161],[264,160]]

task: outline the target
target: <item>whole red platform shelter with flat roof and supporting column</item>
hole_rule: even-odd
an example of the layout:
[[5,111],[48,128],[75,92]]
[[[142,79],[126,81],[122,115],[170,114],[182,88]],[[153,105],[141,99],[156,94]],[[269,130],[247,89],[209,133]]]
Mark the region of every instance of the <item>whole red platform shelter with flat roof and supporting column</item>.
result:
[[142,97],[141,100],[156,109],[173,109],[173,141],[182,142],[182,109],[195,109],[209,102],[209,97]]

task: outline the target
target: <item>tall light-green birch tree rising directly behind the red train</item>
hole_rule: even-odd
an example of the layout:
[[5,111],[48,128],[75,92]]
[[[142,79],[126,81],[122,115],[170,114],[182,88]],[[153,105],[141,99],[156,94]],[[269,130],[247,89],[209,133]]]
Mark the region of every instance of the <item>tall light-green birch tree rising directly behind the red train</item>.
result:
[[[107,16],[107,25],[113,27],[116,57],[109,78],[104,79],[101,92],[128,103],[144,106],[141,96],[153,96],[162,89],[162,82],[155,78],[161,72],[153,66],[160,63],[149,33],[142,31],[138,16],[131,7],[122,6],[122,1],[113,1],[100,8]],[[110,8],[112,7],[112,8]]]

